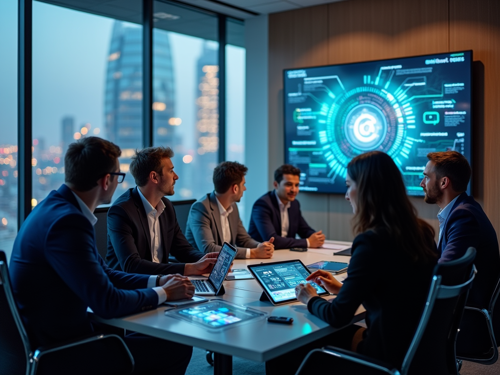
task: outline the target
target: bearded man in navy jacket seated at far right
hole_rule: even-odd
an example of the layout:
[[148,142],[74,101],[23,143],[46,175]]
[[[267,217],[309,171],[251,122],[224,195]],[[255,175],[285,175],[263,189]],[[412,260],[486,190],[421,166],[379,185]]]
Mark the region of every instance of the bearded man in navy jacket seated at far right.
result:
[[[460,258],[468,247],[475,247],[477,274],[469,292],[467,306],[488,308],[489,299],[500,275],[500,254],[496,232],[481,205],[465,190],[470,179],[470,165],[456,151],[429,152],[420,186],[424,201],[437,204],[439,212],[439,263]],[[500,299],[498,299],[500,300]],[[497,300],[497,301],[498,301]],[[497,303],[500,308],[500,304]],[[493,330],[500,345],[500,319],[493,319]],[[474,352],[477,329],[465,313],[457,338],[457,352]],[[484,322],[482,322],[484,324]],[[487,350],[487,349],[486,349]]]

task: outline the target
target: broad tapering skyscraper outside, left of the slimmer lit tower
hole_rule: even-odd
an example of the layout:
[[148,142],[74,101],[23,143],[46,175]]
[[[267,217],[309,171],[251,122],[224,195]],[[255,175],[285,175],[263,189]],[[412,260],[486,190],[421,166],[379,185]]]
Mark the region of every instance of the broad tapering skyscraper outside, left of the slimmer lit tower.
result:
[[[154,145],[176,143],[174,85],[170,43],[166,33],[153,31]],[[121,148],[120,169],[128,171],[130,156],[142,147],[142,27],[115,21],[107,63],[104,116],[106,138]],[[124,190],[130,177],[118,187]],[[118,193],[121,193],[118,191]],[[115,193],[116,195],[116,193]]]

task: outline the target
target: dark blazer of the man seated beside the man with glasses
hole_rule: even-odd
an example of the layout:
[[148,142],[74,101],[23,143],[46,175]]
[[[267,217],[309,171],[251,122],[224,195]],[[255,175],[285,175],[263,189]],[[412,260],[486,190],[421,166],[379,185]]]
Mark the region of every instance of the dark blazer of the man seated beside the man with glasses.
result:
[[[121,194],[107,211],[106,262],[116,270],[145,274],[184,274],[185,263],[194,263],[204,253],[193,248],[180,230],[173,204],[162,197],[164,211],[159,215],[161,263],[151,256],[151,234],[137,186]],[[182,263],[168,263],[168,255]]]

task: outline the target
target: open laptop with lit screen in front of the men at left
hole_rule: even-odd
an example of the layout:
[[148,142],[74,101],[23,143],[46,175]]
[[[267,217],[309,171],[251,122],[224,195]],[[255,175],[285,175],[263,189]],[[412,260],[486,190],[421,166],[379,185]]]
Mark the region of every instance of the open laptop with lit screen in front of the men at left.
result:
[[235,256],[236,249],[229,243],[224,242],[208,278],[189,278],[194,285],[194,294],[216,295],[222,287],[222,281],[229,272],[229,267]]

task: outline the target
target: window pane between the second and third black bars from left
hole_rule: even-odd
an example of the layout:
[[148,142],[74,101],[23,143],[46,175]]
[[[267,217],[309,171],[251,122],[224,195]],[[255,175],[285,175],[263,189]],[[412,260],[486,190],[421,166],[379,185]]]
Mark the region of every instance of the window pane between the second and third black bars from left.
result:
[[175,152],[172,199],[198,199],[218,159],[217,18],[163,2],[154,17],[153,142]]

